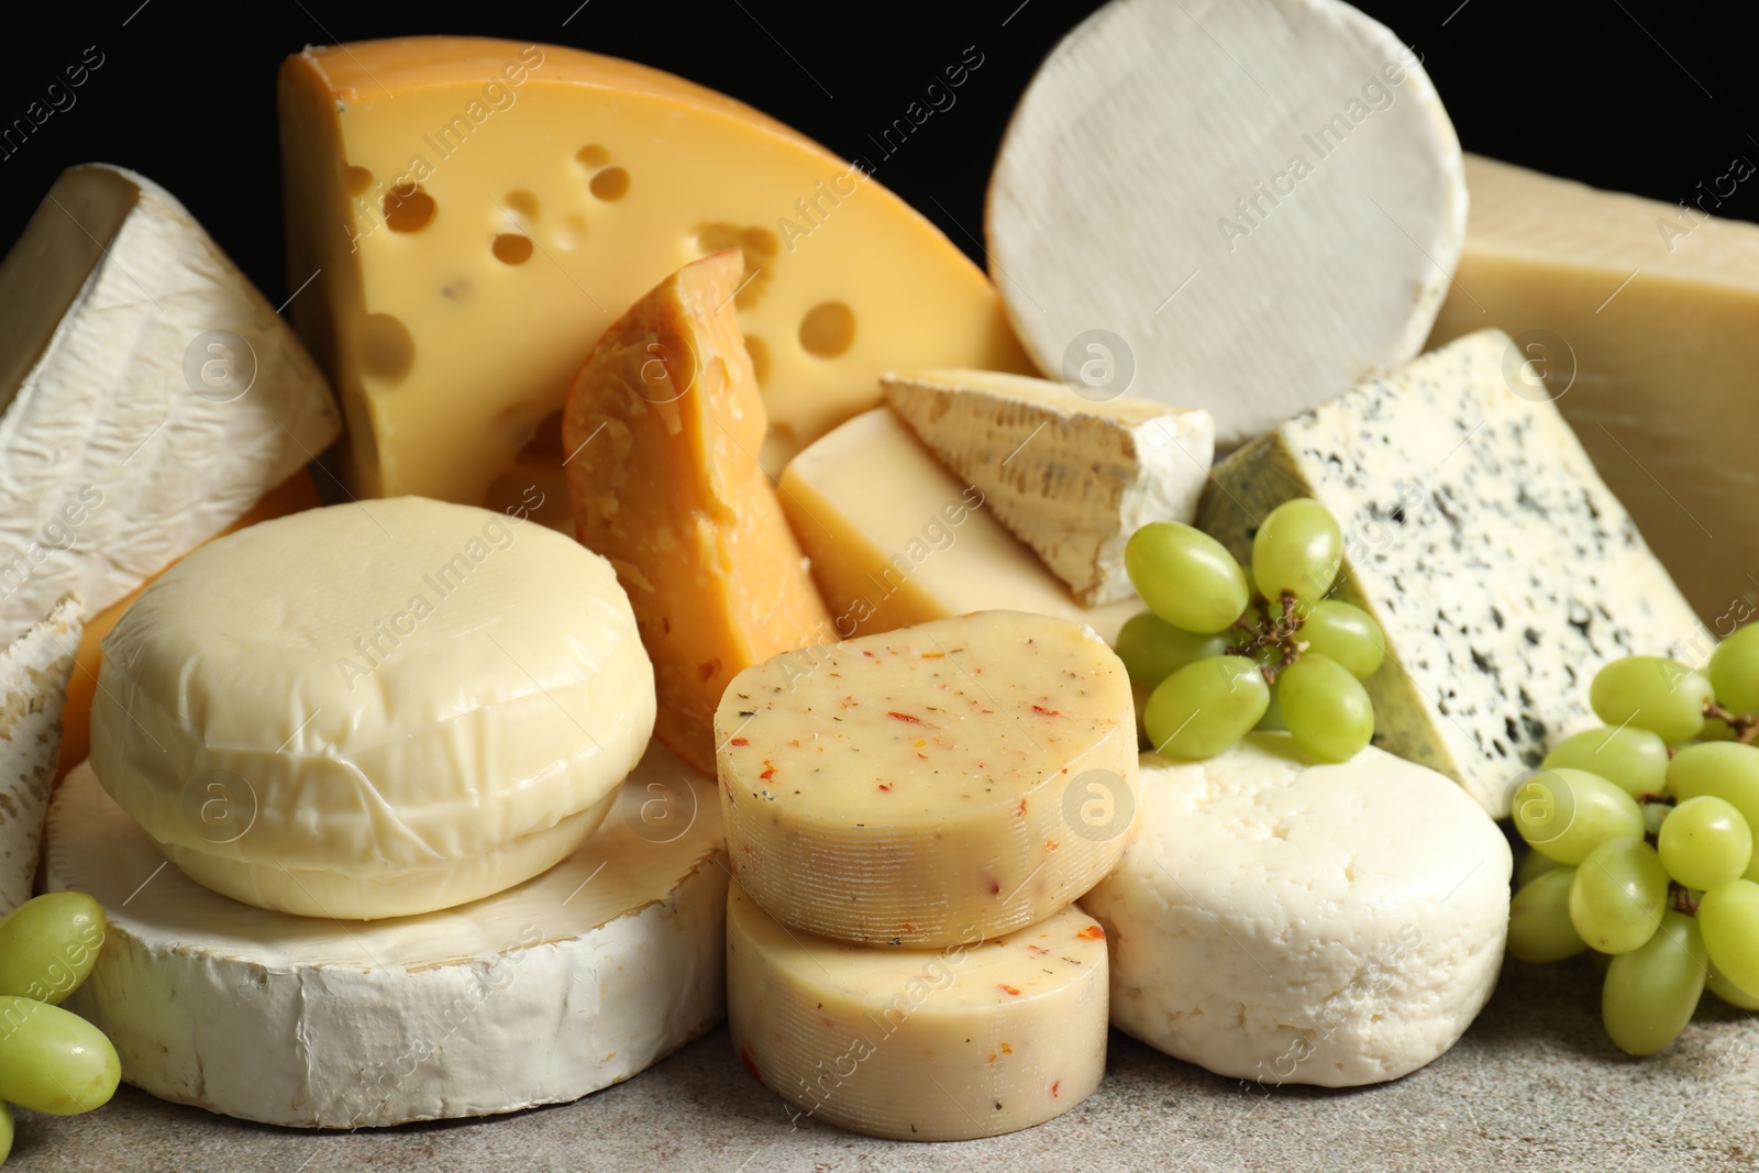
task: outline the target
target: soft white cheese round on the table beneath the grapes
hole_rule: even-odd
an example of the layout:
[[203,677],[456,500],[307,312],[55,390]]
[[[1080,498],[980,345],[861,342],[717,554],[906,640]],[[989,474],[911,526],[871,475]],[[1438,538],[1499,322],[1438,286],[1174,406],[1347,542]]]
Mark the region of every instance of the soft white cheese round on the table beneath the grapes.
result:
[[1397,1080],[1446,1052],[1502,967],[1513,856],[1441,774],[1288,733],[1142,756],[1129,849],[1082,899],[1112,1025],[1263,1085]]

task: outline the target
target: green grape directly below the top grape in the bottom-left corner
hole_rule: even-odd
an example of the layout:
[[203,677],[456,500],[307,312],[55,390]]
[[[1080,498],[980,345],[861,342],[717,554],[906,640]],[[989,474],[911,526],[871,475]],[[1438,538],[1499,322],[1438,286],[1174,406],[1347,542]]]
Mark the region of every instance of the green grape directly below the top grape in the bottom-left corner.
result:
[[0,1099],[53,1117],[109,1103],[121,1060],[104,1032],[79,1015],[0,995]]

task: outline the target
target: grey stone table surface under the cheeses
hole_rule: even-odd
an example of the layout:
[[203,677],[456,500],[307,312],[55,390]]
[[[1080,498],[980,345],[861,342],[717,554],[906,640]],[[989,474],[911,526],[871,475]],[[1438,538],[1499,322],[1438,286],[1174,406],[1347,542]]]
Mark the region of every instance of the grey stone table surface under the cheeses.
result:
[[1099,1092],[1036,1129],[982,1141],[878,1141],[811,1120],[744,1073],[721,1027],[572,1104],[359,1133],[245,1124],[123,1089],[104,1110],[21,1111],[5,1173],[331,1169],[1008,1169],[1759,1168],[1759,1018],[1706,997],[1664,1055],[1617,1052],[1587,962],[1509,962],[1467,1036],[1381,1087],[1266,1089],[1212,1076],[1117,1032]]

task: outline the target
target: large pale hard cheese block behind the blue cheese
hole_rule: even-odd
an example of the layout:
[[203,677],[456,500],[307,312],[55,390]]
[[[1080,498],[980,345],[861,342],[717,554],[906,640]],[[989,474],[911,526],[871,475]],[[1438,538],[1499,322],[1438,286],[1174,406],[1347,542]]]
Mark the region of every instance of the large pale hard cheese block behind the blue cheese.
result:
[[[1713,211],[1754,165],[1687,204],[1595,192],[1465,158],[1472,216],[1434,343],[1500,327],[1706,624],[1759,605],[1750,429],[1759,369],[1759,227]],[[1696,649],[1701,656],[1710,644]]]

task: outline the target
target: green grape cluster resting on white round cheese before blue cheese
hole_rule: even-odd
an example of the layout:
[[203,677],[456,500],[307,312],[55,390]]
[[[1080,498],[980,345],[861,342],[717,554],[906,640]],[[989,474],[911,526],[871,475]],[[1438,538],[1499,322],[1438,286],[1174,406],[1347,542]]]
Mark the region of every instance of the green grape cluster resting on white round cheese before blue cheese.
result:
[[1252,728],[1286,728],[1319,761],[1374,737],[1361,679],[1386,638],[1360,607],[1326,598],[1344,561],[1337,521],[1310,498],[1279,505],[1252,538],[1251,573],[1201,529],[1143,526],[1124,549],[1149,610],[1117,637],[1143,728],[1168,756],[1212,758]]

